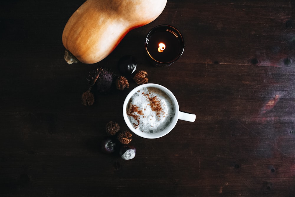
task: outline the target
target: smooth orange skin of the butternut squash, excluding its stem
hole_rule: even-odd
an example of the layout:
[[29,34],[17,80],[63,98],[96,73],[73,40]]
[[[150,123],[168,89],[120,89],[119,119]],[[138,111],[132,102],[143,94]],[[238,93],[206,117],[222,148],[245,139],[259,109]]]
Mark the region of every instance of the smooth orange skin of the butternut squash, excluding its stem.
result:
[[166,3],[167,0],[87,0],[66,23],[63,45],[82,63],[99,62],[130,30],[155,20]]

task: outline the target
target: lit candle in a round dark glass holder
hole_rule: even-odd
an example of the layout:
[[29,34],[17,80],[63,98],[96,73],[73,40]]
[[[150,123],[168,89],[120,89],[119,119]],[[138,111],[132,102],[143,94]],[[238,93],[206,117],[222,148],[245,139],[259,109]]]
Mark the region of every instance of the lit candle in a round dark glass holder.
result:
[[184,50],[181,33],[171,25],[159,25],[148,33],[145,40],[147,56],[155,66],[170,66]]

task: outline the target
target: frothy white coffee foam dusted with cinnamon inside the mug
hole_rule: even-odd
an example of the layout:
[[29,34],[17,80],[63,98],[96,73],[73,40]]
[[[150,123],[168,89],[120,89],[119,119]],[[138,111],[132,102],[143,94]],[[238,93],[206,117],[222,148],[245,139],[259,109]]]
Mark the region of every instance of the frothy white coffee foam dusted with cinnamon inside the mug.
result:
[[172,99],[162,90],[144,87],[132,95],[127,105],[129,121],[146,133],[163,131],[175,115]]

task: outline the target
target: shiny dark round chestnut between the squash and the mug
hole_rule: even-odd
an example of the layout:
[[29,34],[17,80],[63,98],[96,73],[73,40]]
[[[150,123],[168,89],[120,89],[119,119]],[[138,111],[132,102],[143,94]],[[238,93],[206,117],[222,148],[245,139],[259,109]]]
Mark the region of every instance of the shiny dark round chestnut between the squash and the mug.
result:
[[136,61],[133,56],[126,55],[119,59],[118,69],[123,75],[131,75],[136,70]]

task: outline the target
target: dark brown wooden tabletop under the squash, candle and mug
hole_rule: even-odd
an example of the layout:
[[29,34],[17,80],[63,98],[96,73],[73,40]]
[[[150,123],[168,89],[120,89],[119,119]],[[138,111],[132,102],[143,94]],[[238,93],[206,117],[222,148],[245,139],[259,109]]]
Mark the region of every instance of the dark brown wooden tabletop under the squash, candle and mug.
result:
[[[0,196],[295,196],[295,1],[169,1],[97,64],[68,65],[61,35],[83,3],[0,8]],[[166,68],[145,59],[148,31],[177,27],[186,47]],[[139,47],[139,49],[137,49]],[[130,89],[81,104],[98,67],[131,54],[196,121],[133,135],[134,159],[101,152],[105,125],[127,130]]]

